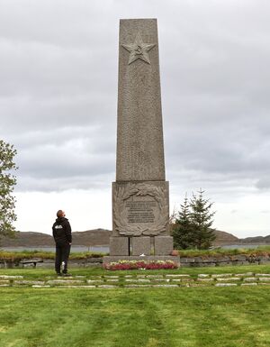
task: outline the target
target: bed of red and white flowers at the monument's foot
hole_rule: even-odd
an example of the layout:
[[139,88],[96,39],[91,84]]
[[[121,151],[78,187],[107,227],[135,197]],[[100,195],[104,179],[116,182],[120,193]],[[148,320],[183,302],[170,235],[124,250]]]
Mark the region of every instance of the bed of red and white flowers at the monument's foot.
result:
[[103,264],[104,269],[177,269],[178,266],[172,260],[119,260]]

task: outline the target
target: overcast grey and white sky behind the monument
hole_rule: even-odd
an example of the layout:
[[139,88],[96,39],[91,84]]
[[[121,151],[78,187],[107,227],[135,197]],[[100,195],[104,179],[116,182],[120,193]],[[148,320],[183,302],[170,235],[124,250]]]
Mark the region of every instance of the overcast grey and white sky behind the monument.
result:
[[121,18],[157,18],[170,209],[200,187],[214,226],[270,234],[267,0],[0,0],[0,138],[16,227],[112,228]]

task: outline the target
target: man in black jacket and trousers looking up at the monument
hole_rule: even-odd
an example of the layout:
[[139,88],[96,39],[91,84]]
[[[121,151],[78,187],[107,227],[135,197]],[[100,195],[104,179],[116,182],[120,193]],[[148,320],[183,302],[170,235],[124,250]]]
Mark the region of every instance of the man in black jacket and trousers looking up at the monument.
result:
[[[58,218],[52,225],[52,234],[56,244],[55,270],[58,276],[71,276],[67,274],[67,260],[72,242],[71,227],[62,210],[58,210]],[[61,263],[64,265],[61,273]]]

